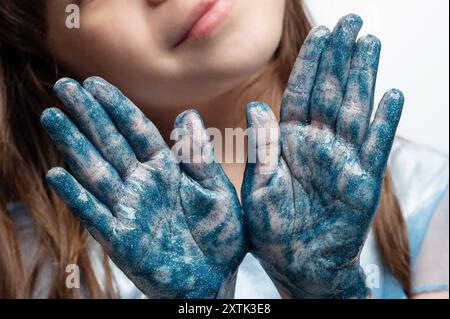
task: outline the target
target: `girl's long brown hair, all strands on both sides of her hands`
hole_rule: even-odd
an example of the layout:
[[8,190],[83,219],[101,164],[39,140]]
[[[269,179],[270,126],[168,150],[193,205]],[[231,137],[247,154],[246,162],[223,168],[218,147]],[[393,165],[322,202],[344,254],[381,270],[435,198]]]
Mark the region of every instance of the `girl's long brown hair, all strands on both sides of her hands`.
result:
[[[311,29],[301,3],[286,1],[285,27],[275,56],[282,85]],[[89,257],[90,237],[44,180],[48,169],[63,162],[39,124],[45,106],[62,107],[51,94],[62,74],[46,43],[43,6],[34,0],[0,3],[0,298],[31,297],[48,258],[54,265],[49,297],[80,297],[78,290],[65,287],[68,264],[80,266],[90,297],[114,297],[106,255],[102,289]],[[7,212],[11,202],[25,204],[39,234],[40,257],[31,270],[22,263],[18,234]],[[389,176],[374,227],[384,263],[409,295],[408,237]]]

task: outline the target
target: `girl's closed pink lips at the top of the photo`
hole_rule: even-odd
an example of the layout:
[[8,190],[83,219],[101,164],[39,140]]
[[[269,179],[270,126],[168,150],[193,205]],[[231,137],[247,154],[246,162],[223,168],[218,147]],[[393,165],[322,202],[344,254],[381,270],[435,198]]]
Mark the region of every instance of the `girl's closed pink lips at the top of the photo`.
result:
[[188,15],[175,47],[206,38],[218,27],[231,11],[234,0],[202,0]]

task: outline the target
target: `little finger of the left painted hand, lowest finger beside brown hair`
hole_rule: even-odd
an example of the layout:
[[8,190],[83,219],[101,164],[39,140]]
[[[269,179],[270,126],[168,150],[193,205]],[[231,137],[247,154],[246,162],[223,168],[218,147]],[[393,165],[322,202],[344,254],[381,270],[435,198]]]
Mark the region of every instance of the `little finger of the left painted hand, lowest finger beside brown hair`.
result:
[[112,238],[115,228],[113,215],[72,175],[63,168],[54,168],[48,172],[47,182],[97,241]]

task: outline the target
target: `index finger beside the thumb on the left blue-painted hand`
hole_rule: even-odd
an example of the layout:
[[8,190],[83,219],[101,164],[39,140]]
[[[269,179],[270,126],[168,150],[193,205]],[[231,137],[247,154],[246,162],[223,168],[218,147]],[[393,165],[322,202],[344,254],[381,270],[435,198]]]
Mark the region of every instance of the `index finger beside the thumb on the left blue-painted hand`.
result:
[[83,87],[105,108],[141,162],[167,148],[155,125],[116,87],[99,77],[88,78]]

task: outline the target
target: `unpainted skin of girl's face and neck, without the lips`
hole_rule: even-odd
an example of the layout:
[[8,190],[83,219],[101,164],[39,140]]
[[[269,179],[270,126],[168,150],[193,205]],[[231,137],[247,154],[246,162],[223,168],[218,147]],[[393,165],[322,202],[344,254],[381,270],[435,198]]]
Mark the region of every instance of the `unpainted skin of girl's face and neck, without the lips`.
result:
[[[173,120],[188,107],[195,107],[206,127],[245,130],[249,101],[281,101],[271,59],[282,34],[285,0],[235,0],[207,38],[169,45],[198,2],[80,0],[81,27],[68,29],[65,9],[73,1],[47,0],[48,44],[61,71],[79,82],[101,76],[119,87],[168,144]],[[240,195],[245,164],[223,168]]]

